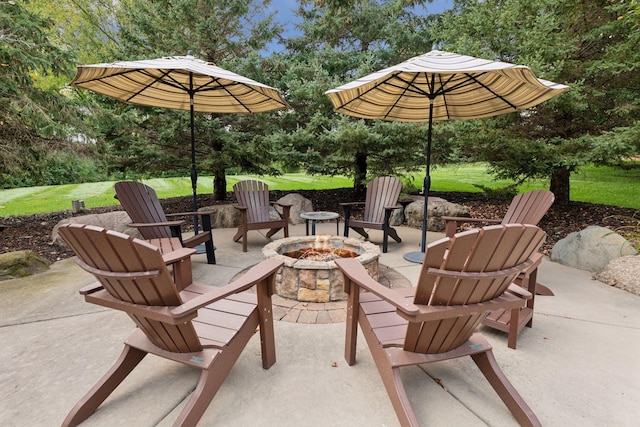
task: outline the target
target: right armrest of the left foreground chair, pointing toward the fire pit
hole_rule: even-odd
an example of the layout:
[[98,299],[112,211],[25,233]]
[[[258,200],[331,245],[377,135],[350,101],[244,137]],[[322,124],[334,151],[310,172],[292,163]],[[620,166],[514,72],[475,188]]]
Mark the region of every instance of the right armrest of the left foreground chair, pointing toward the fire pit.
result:
[[[175,316],[184,316],[188,313],[196,312],[198,309],[229,295],[245,291],[267,279],[269,276],[275,275],[280,267],[282,267],[282,264],[283,262],[281,260],[275,258],[266,259],[252,267],[237,280],[234,280],[226,286],[207,292],[206,294],[199,295],[179,307],[173,307],[171,312]],[[189,287],[187,287],[186,290],[189,290]]]

